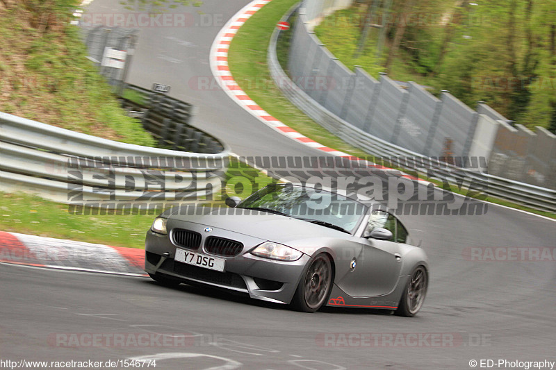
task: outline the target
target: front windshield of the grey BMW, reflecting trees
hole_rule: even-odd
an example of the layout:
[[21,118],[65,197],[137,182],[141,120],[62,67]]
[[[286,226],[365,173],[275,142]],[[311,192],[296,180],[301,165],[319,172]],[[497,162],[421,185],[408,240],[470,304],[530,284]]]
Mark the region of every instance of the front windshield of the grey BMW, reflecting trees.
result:
[[326,190],[291,184],[269,185],[238,205],[303,219],[329,228],[352,233],[367,207],[357,201]]

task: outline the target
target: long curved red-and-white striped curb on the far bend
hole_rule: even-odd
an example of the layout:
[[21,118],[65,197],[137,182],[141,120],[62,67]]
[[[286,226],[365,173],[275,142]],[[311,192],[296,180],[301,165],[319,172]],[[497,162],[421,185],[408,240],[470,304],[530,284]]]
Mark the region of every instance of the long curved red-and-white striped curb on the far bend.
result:
[[[247,93],[241,90],[241,87],[234,80],[234,76],[232,76],[228,65],[228,52],[231,40],[234,39],[234,36],[243,26],[243,24],[247,22],[247,19],[252,17],[252,15],[254,15],[257,11],[261,10],[263,6],[270,3],[270,1],[271,0],[254,0],[248,3],[247,6],[236,12],[236,14],[231,17],[231,19],[229,19],[227,24],[222,27],[211,47],[211,72],[213,73],[213,76],[215,76],[215,80],[218,81],[218,84],[220,85],[220,87],[222,87],[222,90],[224,90],[224,92],[226,92],[226,94],[228,94],[228,96],[230,96],[232,100],[238,103],[239,106],[247,110],[247,112],[250,112],[251,115],[259,119],[259,121],[261,121],[266,126],[269,126],[275,131],[281,133],[281,135],[289,137],[292,140],[300,142],[301,144],[309,146],[313,149],[325,152],[329,155],[334,155],[341,158],[348,158],[351,160],[361,160],[360,158],[354,157],[353,155],[350,155],[348,153],[344,153],[343,151],[338,151],[336,149],[332,149],[328,146],[322,145],[310,139],[309,137],[302,135],[302,133],[298,133],[290,126],[279,121],[279,119],[272,117],[272,115],[263,110],[263,108],[261,108],[255,101],[253,101],[247,95]],[[368,162],[368,164],[369,167],[375,167],[376,169],[380,169],[382,171],[400,172],[388,167],[375,165],[371,162]],[[400,176],[410,178],[411,180],[420,180],[419,178],[404,174],[402,172],[400,172]],[[426,181],[423,182],[428,184],[428,182]]]

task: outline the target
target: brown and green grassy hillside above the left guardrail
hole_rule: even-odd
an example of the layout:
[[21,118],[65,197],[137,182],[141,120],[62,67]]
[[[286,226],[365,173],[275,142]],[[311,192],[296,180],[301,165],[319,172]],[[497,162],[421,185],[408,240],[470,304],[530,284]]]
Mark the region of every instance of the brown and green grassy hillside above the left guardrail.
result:
[[0,111],[110,140],[154,146],[127,117],[70,25],[77,0],[0,8]]

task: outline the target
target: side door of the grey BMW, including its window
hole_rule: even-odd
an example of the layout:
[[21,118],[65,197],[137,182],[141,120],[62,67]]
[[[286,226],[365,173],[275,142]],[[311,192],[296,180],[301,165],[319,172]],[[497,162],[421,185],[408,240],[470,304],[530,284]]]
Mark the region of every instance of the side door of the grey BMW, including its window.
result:
[[[397,219],[389,212],[371,210],[363,237],[359,238],[362,253],[355,261],[355,268],[338,282],[350,296],[382,296],[391,292],[400,276],[400,249],[396,240]],[[392,232],[390,240],[365,237],[375,228],[386,228]]]

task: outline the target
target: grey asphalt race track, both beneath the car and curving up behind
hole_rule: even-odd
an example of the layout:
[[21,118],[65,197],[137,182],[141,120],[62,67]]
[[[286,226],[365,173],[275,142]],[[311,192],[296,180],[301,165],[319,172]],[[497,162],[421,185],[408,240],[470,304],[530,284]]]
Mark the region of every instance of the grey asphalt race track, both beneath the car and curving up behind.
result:
[[[199,106],[195,124],[240,155],[320,155],[261,124],[224,92],[188,87],[191,78],[211,76],[213,38],[247,2],[204,0],[204,13],[222,15],[215,26],[143,28],[131,83],[172,85],[172,96]],[[118,7],[96,0],[88,11]],[[495,205],[484,215],[403,219],[432,269],[417,317],[336,308],[304,314],[187,285],[161,287],[149,278],[0,264],[0,358],[156,359],[157,370],[471,369],[471,360],[556,361],[554,221]],[[543,258],[530,258],[535,253]]]

